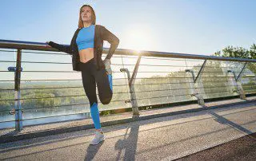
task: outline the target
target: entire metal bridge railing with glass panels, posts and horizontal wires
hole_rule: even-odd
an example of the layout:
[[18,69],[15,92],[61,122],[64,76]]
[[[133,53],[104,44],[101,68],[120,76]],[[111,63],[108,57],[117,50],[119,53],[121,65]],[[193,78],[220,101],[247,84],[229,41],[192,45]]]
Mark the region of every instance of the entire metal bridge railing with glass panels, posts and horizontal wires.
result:
[[[69,54],[28,41],[0,40],[0,48],[2,128],[15,122],[20,131],[23,124],[90,116]],[[256,93],[253,59],[117,49],[111,61],[114,96],[110,104],[99,103],[100,111],[132,108],[139,116],[142,106],[186,100],[204,105],[204,99]]]

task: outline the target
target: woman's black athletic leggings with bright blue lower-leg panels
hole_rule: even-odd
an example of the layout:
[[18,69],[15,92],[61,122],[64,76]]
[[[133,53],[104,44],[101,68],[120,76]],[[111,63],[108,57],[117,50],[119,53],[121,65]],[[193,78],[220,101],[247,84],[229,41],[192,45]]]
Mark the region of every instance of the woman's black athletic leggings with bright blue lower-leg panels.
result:
[[98,100],[96,96],[96,84],[98,87],[98,98],[102,104],[109,104],[113,96],[112,76],[106,73],[106,69],[96,69],[94,58],[86,63],[80,62],[82,71],[82,84],[86,96],[90,101],[90,116],[94,121],[96,129],[101,128],[98,112]]

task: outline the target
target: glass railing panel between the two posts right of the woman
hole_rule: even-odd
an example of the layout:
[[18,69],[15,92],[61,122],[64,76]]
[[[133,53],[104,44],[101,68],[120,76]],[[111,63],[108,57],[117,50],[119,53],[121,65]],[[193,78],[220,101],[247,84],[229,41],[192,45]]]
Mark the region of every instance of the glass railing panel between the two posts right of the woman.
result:
[[184,59],[142,57],[134,84],[139,106],[191,100]]

